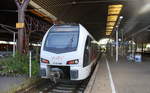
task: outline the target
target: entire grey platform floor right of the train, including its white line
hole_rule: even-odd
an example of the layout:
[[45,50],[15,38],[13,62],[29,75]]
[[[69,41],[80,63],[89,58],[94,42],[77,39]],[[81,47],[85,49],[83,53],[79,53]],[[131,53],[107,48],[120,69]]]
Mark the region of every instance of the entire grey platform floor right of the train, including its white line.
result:
[[101,57],[91,93],[150,93],[150,60],[129,63],[119,59],[116,63],[112,57]]

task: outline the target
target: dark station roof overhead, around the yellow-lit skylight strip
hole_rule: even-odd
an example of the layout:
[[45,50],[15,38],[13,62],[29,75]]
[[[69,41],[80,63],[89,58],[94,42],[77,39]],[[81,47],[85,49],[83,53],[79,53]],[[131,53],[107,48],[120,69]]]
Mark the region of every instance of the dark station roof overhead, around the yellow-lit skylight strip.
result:
[[[124,31],[127,39],[136,37],[134,39],[141,42],[149,40],[150,13],[146,10],[146,8],[150,9],[148,7],[149,0],[32,0],[31,2],[46,10],[52,20],[82,24],[96,40],[108,37],[105,35],[108,5],[123,4],[124,7],[120,15],[124,18],[119,30]],[[28,7],[28,9],[34,10],[41,10],[40,8],[33,7],[33,3],[30,3]],[[0,24],[15,28],[17,7],[14,0],[4,0],[0,3],[0,20]],[[17,31],[14,28],[11,29]],[[140,34],[143,30],[144,38]],[[32,40],[36,39],[36,35],[33,34]],[[7,38],[8,36],[10,38]],[[13,38],[12,33],[0,26],[0,39],[12,40],[11,38]]]

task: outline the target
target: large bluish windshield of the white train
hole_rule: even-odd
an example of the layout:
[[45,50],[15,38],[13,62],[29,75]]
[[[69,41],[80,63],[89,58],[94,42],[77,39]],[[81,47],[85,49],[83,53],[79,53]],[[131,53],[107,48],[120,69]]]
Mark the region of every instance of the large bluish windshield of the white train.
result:
[[[66,29],[66,28],[65,28]],[[79,31],[50,31],[44,50],[54,53],[75,51],[78,45]]]

